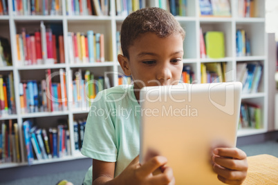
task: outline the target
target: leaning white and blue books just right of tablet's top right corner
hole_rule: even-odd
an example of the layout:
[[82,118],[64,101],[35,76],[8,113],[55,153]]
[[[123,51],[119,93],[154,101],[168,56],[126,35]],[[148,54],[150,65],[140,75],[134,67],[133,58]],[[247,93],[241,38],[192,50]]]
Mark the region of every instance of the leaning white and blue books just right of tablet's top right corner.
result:
[[263,66],[259,62],[237,64],[237,81],[243,84],[242,93],[258,92],[262,72]]

